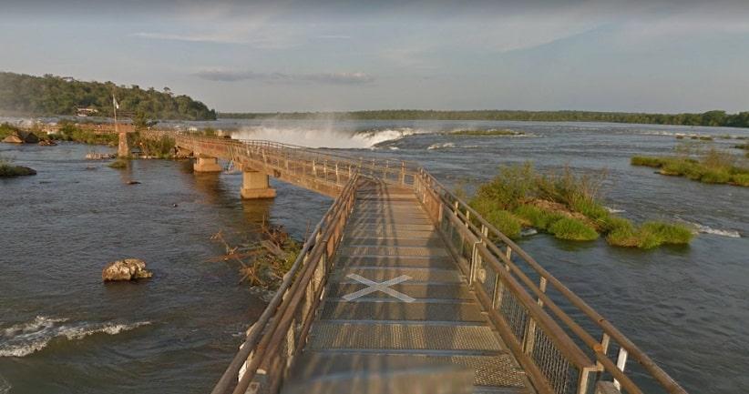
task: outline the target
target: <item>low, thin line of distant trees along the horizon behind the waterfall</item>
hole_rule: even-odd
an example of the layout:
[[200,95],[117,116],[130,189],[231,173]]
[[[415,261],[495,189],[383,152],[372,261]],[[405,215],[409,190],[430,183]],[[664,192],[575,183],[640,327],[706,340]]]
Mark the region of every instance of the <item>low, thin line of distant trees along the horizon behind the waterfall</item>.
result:
[[220,113],[221,118],[242,119],[310,119],[336,118],[354,120],[526,120],[539,122],[611,122],[652,125],[749,127],[749,111],[726,114],[708,111],[703,114],[641,114],[590,111],[432,111],[394,109],[353,112],[286,112],[286,113]]

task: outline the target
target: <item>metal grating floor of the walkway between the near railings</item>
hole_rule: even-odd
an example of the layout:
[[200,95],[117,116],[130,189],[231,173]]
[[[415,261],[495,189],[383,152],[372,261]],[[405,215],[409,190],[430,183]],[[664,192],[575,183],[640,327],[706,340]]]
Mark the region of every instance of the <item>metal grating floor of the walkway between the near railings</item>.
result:
[[[411,302],[383,291],[344,298],[372,285],[362,278],[404,275],[388,288]],[[285,393],[338,392],[335,377],[357,372],[445,365],[473,369],[475,392],[532,392],[411,188],[367,180],[357,189],[324,294]]]

